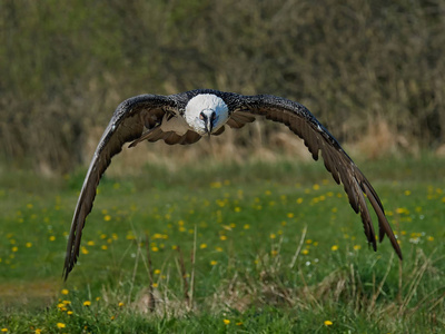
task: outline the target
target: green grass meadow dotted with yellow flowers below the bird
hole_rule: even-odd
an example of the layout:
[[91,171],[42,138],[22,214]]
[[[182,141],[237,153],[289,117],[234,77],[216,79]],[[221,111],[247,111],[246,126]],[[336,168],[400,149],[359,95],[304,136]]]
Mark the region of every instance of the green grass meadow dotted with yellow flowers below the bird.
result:
[[6,333],[443,333],[445,160],[358,161],[396,232],[368,248],[320,163],[105,177],[61,278],[85,170],[0,170]]

